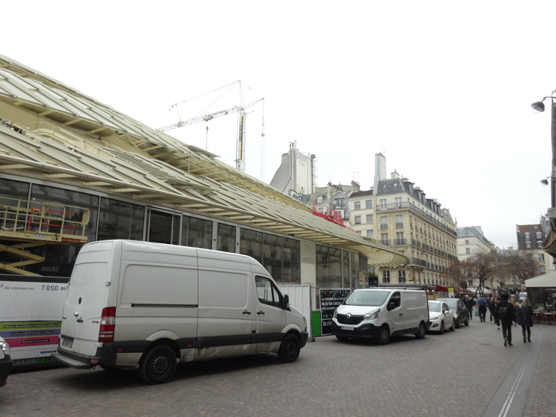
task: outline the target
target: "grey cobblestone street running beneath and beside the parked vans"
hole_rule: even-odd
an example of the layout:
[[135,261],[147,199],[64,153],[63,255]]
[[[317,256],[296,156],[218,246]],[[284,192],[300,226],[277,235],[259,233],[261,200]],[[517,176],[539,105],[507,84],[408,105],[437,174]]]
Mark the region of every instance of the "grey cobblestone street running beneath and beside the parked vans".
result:
[[525,416],[555,416],[556,328],[533,327],[528,344],[518,330],[514,347],[506,348],[496,326],[479,320],[386,346],[328,336],[307,343],[295,363],[279,363],[274,354],[187,363],[159,386],[142,384],[136,370],[13,373],[0,389],[0,410],[26,417],[481,416],[522,351],[542,343],[521,409]]

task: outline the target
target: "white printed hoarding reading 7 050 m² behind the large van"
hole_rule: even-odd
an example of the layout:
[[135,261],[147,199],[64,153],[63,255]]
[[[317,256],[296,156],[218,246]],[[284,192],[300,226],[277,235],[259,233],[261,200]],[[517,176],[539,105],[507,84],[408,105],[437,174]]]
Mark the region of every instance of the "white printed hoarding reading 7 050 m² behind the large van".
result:
[[56,352],[69,278],[0,277],[0,336],[12,359]]

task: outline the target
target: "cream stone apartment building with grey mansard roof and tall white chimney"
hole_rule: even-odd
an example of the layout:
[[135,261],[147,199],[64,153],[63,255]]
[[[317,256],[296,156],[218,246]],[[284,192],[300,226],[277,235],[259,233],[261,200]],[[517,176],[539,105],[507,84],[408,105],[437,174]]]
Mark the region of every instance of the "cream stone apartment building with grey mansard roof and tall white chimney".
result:
[[373,189],[352,193],[348,207],[355,233],[395,247],[409,258],[403,267],[376,268],[379,284],[448,285],[443,272],[457,259],[452,215],[398,172],[386,178],[384,155],[375,155]]

